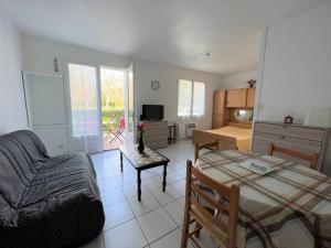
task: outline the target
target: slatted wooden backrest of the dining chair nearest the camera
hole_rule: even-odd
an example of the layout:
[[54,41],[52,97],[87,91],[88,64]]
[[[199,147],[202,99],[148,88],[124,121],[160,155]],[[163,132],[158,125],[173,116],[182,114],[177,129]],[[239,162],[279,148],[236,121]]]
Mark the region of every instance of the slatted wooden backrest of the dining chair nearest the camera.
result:
[[[212,197],[210,194],[201,190],[200,185],[206,186],[212,190],[217,198]],[[226,248],[235,248],[236,246],[236,227],[238,218],[238,203],[239,203],[239,188],[236,185],[227,187],[217,183],[213,179],[204,175],[197,169],[192,166],[192,161],[186,162],[186,207],[189,211],[195,209],[205,219],[206,228],[210,235],[215,240],[224,240],[218,244]],[[222,201],[217,201],[217,200]],[[216,209],[220,218],[215,217],[204,208],[202,203],[207,203],[213,209]],[[221,242],[221,241],[218,241]]]

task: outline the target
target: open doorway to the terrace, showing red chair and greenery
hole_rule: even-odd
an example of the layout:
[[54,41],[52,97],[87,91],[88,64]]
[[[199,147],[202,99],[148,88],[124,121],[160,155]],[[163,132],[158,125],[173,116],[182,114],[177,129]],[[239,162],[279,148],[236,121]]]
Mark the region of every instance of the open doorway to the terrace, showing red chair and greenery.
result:
[[100,100],[104,150],[134,142],[134,74],[127,69],[100,67]]

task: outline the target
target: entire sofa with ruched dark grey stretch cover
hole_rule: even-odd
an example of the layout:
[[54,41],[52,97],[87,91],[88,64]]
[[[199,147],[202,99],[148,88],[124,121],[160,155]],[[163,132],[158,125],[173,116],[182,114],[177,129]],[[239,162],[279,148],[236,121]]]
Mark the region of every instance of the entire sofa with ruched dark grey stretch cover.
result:
[[78,247],[104,222],[88,155],[49,157],[28,130],[0,136],[0,247]]

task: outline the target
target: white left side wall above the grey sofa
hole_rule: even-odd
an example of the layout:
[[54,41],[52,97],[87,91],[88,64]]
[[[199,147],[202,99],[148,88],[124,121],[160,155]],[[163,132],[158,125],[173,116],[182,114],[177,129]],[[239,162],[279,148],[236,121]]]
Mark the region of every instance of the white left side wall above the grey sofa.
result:
[[0,134],[28,126],[15,26],[0,17]]

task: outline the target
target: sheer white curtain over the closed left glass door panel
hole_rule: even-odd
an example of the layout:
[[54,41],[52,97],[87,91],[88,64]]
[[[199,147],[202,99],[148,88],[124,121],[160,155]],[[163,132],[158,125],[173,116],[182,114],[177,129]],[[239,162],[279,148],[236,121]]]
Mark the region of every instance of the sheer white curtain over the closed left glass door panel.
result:
[[94,66],[68,64],[71,151],[103,150],[98,77]]

